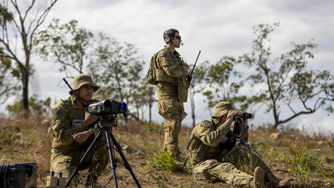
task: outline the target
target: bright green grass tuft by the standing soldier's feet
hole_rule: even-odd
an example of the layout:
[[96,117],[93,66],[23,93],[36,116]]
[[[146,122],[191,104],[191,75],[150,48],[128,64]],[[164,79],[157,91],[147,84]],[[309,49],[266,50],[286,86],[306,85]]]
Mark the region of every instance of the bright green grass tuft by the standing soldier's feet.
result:
[[169,172],[184,171],[183,164],[177,163],[173,156],[170,152],[159,152],[156,157],[149,155],[147,163],[151,167]]

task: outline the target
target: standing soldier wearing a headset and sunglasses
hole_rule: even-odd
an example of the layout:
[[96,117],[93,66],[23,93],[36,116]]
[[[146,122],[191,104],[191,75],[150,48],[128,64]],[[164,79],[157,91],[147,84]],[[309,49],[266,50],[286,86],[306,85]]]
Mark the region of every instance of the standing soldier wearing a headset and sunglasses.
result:
[[180,159],[178,135],[181,121],[184,119],[183,102],[187,102],[189,84],[186,80],[189,65],[184,63],[180,54],[175,50],[181,44],[181,36],[176,29],[163,33],[166,46],[157,53],[156,81],[158,82],[158,112],[164,122],[163,150],[174,154]]

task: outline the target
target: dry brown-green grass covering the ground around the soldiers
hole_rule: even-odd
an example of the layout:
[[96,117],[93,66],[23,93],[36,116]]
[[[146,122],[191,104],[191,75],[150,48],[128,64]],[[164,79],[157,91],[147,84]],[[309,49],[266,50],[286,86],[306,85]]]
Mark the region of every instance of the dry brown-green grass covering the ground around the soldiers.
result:
[[[32,118],[0,118],[0,163],[35,161],[38,176],[42,171],[49,170],[50,144],[46,139],[49,124],[42,122]],[[4,130],[3,127],[7,125],[16,126],[19,130],[16,131],[14,127]],[[185,126],[181,128],[179,147],[183,158],[188,154],[185,147],[191,130]],[[280,138],[272,138],[272,133],[279,133]],[[176,163],[170,153],[161,152],[164,128],[160,124],[119,122],[113,128],[113,134],[122,146],[127,145],[123,153],[142,187],[229,187],[213,179],[196,181],[191,170]],[[262,155],[273,173],[283,179],[293,179],[294,187],[334,187],[333,141],[333,135],[312,134],[288,127],[273,130],[269,126],[262,126],[249,133],[249,143]],[[116,160],[119,187],[136,187],[118,153]],[[235,164],[240,170],[253,173],[251,164],[243,160],[236,160]],[[99,181],[106,184],[112,177],[110,164],[103,174]],[[86,178],[87,172],[80,172],[80,186]],[[46,174],[42,179],[46,181]],[[44,186],[38,178],[38,187]],[[107,186],[114,187],[113,180]]]

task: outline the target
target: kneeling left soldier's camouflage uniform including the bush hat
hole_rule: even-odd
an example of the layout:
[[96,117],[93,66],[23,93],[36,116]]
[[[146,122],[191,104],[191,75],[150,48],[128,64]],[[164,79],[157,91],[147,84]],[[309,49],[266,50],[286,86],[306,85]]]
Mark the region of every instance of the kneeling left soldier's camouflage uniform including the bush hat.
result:
[[[78,89],[82,85],[94,86],[96,91],[99,86],[92,82],[88,74],[80,74],[73,80],[73,90],[78,94]],[[66,100],[61,100],[51,109],[51,125],[48,130],[48,135],[51,143],[51,167],[50,170],[55,173],[62,172],[63,177],[69,178],[75,170],[80,159],[83,157],[88,146],[97,136],[98,130],[92,128],[92,124],[86,126],[83,120],[85,119],[85,109],[76,105],[76,97],[70,91],[70,97]],[[94,103],[98,100],[90,100],[88,103]],[[81,133],[90,129],[92,135],[82,144],[73,140],[72,135]],[[101,175],[108,163],[108,154],[105,149],[104,137],[101,137],[95,144],[92,152],[88,154],[83,162],[80,170],[87,168],[92,177],[96,178]],[[73,184],[78,184],[77,177],[72,179]]]

